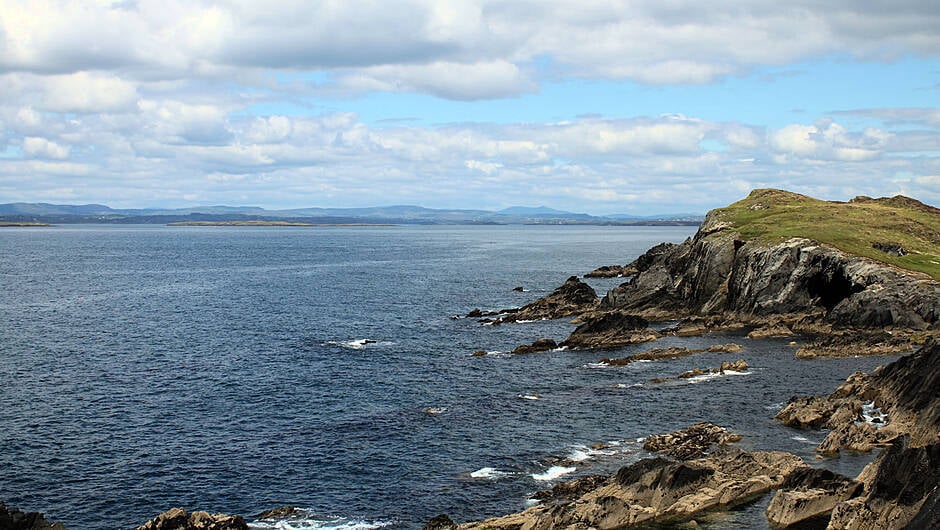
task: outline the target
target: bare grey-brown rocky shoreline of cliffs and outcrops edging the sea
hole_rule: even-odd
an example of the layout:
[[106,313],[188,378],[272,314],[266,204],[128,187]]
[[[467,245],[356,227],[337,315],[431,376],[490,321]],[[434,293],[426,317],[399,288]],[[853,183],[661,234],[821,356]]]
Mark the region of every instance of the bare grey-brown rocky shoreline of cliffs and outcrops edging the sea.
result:
[[[776,193],[752,193],[747,208],[774,208],[769,199]],[[626,266],[597,269],[592,277],[630,277],[603,298],[572,276],[521,308],[474,309],[466,318],[489,325],[558,318],[572,318],[577,324],[567,338],[538,338],[517,347],[515,354],[604,350],[664,336],[727,330],[754,340],[800,338],[802,345],[795,351],[800,358],[913,352],[871,374],[853,374],[828,396],[794,397],[775,416],[794,429],[828,429],[816,449],[820,458],[881,449],[857,477],[814,468],[790,453],[745,451],[733,445],[740,440],[738,434],[698,423],[647,438],[644,449],[656,456],[609,476],[582,477],[539,492],[540,503],[525,511],[462,524],[441,515],[424,529],[695,524],[708,513],[772,491],[776,493],[766,517],[775,527],[940,527],[940,283],[806,238],[773,244],[748,240],[738,228],[721,212],[710,212],[693,238],[657,245]],[[662,321],[677,322],[662,328],[651,325]],[[707,351],[740,349],[716,344]],[[600,362],[618,366],[703,351],[653,348]],[[747,369],[743,359],[678,377],[742,369]],[[290,508],[282,510],[287,511],[270,517],[290,517]],[[41,514],[7,511],[0,505],[0,530],[62,528]],[[174,508],[138,530],[230,528],[247,525],[240,516]]]

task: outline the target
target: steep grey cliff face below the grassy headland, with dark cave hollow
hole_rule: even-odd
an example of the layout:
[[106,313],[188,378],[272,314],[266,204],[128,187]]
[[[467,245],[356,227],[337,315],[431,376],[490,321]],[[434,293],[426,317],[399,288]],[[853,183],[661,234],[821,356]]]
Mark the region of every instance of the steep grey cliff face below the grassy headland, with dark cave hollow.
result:
[[810,317],[840,327],[940,329],[940,283],[806,238],[745,241],[709,213],[694,238],[637,260],[638,274],[601,309],[650,319]]

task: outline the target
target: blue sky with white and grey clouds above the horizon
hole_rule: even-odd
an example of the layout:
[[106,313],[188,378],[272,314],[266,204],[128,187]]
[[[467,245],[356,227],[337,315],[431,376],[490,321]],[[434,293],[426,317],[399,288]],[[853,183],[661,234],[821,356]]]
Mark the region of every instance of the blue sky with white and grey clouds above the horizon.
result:
[[940,205],[936,0],[0,0],[0,203]]

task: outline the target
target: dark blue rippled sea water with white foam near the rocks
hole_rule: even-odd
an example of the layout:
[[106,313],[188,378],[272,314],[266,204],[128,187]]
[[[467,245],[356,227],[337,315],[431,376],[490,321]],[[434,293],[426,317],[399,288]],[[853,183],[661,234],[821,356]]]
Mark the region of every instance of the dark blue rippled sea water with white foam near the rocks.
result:
[[[0,501],[75,529],[282,505],[311,528],[417,528],[517,511],[552,483],[533,476],[616,469],[643,456],[638,438],[700,420],[811,460],[822,435],[774,424],[780,403],[890,358],[797,361],[787,341],[732,335],[656,345],[743,352],[623,368],[592,363],[651,346],[472,357],[572,326],[450,318],[522,305],[693,232],[0,229]],[[618,280],[591,283],[603,294]],[[647,382],[731,358],[751,369]],[[719,526],[759,526],[759,512]]]

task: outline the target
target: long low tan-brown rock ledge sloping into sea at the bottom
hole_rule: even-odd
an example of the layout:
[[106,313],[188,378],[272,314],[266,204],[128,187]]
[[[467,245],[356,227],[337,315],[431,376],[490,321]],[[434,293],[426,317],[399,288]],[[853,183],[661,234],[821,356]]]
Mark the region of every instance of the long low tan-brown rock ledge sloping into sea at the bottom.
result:
[[697,460],[662,457],[621,468],[613,480],[572,500],[460,525],[462,530],[550,530],[623,528],[644,523],[679,523],[699,513],[748,502],[779,486],[798,457],[780,452],[747,452],[722,447]]

